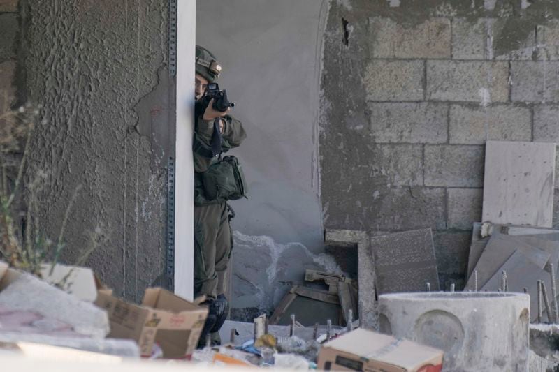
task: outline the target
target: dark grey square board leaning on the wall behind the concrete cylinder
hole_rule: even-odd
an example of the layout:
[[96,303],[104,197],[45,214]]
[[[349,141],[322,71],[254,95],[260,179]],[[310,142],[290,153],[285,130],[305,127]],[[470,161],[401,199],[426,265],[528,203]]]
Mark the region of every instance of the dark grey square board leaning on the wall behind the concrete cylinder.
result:
[[379,295],[423,291],[426,283],[431,290],[439,290],[430,228],[371,237],[371,251]]

